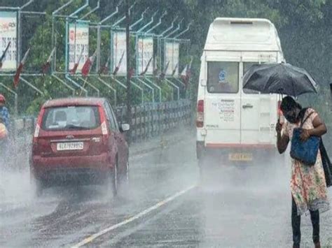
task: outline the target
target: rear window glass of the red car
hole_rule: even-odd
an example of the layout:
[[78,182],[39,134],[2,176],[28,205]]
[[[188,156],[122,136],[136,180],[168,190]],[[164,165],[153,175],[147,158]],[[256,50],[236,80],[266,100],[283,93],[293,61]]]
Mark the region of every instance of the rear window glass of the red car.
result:
[[41,128],[44,130],[88,130],[100,125],[96,106],[66,106],[47,108]]

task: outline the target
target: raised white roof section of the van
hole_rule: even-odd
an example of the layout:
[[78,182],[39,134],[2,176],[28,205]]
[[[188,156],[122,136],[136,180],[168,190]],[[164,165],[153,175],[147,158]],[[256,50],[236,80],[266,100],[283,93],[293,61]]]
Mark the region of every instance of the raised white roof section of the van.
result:
[[219,17],[210,24],[205,50],[281,52],[282,48],[270,20]]

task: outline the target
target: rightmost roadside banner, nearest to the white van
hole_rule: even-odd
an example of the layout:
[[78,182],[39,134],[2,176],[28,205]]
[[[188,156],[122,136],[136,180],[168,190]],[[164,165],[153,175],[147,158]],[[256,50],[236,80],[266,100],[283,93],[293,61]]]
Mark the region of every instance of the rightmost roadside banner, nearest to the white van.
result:
[[[165,43],[165,63],[170,62],[166,75],[173,75],[178,76],[179,75],[179,43],[177,42],[166,42]],[[173,71],[175,70],[175,73]]]

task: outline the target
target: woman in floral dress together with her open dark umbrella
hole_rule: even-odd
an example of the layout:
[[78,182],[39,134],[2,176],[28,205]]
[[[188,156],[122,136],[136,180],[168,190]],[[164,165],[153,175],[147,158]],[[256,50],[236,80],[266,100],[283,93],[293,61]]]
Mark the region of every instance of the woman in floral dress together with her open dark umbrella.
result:
[[[305,141],[311,136],[321,137],[326,133],[326,126],[318,113],[312,108],[303,109],[291,97],[305,93],[317,94],[317,83],[305,69],[286,63],[255,64],[245,73],[243,87],[267,94],[288,95],[282,99],[280,105],[288,122],[281,125],[278,120],[276,125],[277,148],[280,154],[286,151],[289,141],[293,138],[293,130],[298,127],[303,129],[300,133],[301,141]],[[318,151],[316,161],[312,166],[296,159],[291,160],[293,247],[300,247],[300,215],[306,212],[310,212],[314,247],[321,247],[319,212],[324,212],[330,207],[326,182],[321,152]]]

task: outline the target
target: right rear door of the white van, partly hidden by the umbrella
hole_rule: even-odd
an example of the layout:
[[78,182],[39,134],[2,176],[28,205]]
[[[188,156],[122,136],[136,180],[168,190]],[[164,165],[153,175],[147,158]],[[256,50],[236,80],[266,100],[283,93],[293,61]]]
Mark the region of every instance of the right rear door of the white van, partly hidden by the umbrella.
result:
[[[243,62],[242,75],[256,62]],[[242,77],[241,77],[242,78]],[[242,79],[241,79],[242,81]],[[241,85],[242,82],[241,82]],[[260,94],[241,86],[241,143],[275,144],[274,124],[277,118],[277,96]]]

